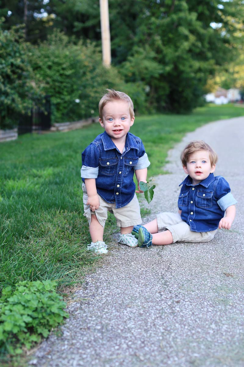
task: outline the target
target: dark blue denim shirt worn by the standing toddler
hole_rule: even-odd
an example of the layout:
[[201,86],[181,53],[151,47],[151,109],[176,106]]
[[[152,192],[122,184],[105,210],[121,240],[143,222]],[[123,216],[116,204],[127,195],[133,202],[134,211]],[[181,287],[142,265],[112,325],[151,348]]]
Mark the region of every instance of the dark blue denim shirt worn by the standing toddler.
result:
[[82,181],[95,178],[97,193],[116,208],[127,205],[135,195],[135,170],[147,168],[150,162],[140,138],[127,133],[121,154],[105,132],[98,135],[82,153]]

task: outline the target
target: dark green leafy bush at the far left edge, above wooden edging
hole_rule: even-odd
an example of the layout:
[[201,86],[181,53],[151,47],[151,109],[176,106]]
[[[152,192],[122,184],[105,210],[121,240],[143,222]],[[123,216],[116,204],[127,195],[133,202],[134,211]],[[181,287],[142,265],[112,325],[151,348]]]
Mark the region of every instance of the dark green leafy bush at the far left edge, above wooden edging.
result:
[[23,28],[3,31],[0,22],[0,128],[17,125],[40,91],[33,83]]

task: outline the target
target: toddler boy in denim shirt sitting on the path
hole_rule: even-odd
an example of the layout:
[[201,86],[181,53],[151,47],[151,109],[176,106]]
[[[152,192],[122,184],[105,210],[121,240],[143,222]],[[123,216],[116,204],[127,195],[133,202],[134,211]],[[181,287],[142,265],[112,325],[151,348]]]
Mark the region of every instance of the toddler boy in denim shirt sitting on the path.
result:
[[217,159],[203,141],[192,141],[185,147],[181,163],[188,176],[179,185],[179,212],[163,212],[146,225],[135,226],[132,233],[138,238],[138,246],[208,242],[218,228],[230,229],[237,201],[224,177],[214,177]]

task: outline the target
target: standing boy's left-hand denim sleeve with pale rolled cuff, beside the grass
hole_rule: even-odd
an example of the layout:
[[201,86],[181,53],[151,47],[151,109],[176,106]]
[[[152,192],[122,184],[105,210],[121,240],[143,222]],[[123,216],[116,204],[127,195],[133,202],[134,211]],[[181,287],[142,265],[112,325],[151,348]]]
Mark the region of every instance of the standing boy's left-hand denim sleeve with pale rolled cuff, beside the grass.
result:
[[80,175],[82,178],[97,178],[100,152],[92,142],[82,153],[82,167]]

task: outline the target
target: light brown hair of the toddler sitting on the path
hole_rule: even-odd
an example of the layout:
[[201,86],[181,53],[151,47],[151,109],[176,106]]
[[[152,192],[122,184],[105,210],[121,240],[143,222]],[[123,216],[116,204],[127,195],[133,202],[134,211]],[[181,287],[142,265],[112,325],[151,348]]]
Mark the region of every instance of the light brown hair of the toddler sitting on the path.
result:
[[205,143],[202,140],[194,140],[194,141],[189,142],[189,144],[187,144],[187,146],[184,148],[183,152],[181,153],[180,159],[181,159],[181,163],[183,164],[183,166],[186,167],[189,156],[192,153],[197,152],[199,150],[207,150],[207,152],[209,152],[211,167],[217,163],[218,156],[215,153],[215,151],[211,148],[211,146],[209,146],[207,143]]

